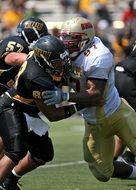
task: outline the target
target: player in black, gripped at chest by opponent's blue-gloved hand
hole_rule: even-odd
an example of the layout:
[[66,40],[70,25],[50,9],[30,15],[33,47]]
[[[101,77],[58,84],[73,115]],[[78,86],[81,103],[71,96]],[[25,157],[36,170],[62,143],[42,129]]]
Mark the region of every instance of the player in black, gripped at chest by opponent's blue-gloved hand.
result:
[[[50,121],[57,121],[68,118],[76,112],[74,105],[59,108],[50,106],[49,108],[43,104],[42,99],[46,90],[54,89],[55,86],[63,84],[64,70],[69,68],[69,57],[63,42],[48,35],[40,38],[33,48],[34,51],[29,53],[27,61],[21,66],[16,77],[15,93],[13,89],[10,89],[0,101],[1,111],[3,110],[0,115],[0,122],[3,123],[0,133],[6,150],[5,156],[0,161],[0,183],[23,158],[27,150],[29,150],[31,158],[37,163],[44,164],[53,158],[51,142],[48,141],[47,149],[45,146],[41,146],[39,149],[37,148],[37,151],[30,146],[24,113],[31,114],[33,117],[37,114],[43,117],[44,113]],[[63,98],[65,100],[65,97]],[[14,106],[12,107],[13,100]],[[59,110],[57,116],[56,109]],[[6,122],[5,118],[7,117],[10,119],[10,123]],[[35,146],[37,143],[36,140]],[[45,149],[46,154],[41,154]],[[4,167],[2,167],[3,163]],[[5,185],[1,187],[11,190]]]

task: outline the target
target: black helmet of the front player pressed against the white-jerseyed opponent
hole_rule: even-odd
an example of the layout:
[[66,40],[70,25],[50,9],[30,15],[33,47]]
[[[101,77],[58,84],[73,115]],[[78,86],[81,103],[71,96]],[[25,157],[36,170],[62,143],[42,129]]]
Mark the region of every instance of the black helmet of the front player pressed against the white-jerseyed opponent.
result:
[[36,62],[50,73],[54,80],[60,81],[65,68],[70,65],[64,43],[55,36],[46,35],[37,40],[33,50]]

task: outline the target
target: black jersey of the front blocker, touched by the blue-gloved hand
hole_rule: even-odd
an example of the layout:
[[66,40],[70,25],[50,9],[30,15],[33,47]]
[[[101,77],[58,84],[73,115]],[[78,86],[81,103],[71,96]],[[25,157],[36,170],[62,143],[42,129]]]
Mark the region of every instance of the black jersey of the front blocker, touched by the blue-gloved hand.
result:
[[15,82],[17,95],[14,99],[21,102],[20,106],[23,112],[34,113],[37,109],[34,99],[41,99],[44,91],[53,90],[54,87],[55,81],[51,75],[35,62],[33,52],[30,52],[28,59],[21,66]]

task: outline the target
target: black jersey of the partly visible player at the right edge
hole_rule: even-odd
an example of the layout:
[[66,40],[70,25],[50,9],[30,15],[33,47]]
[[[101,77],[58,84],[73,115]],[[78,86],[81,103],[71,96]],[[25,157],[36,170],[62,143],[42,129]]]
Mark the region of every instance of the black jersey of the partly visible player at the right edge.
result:
[[[121,66],[123,70],[120,70]],[[115,86],[121,98],[136,111],[136,57],[128,56],[115,67]]]

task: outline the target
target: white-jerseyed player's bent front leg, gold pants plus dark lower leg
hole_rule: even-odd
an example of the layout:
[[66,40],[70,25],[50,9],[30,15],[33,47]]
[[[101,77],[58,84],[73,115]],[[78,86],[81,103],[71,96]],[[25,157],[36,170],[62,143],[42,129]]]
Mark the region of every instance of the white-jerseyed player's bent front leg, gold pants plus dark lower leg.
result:
[[[85,160],[88,162],[93,175],[100,181],[108,181],[111,177],[134,177],[134,175],[131,174],[135,169],[131,165],[124,162],[113,162],[114,130],[123,126],[121,123],[117,122],[117,128],[114,129],[115,126],[113,123],[115,124],[115,121],[118,120],[118,115],[120,116],[119,113],[113,114],[108,118],[108,122],[105,120],[103,125],[90,125],[87,122],[85,123]],[[123,124],[125,125],[125,123]],[[127,133],[128,132],[130,131],[127,130]]]

